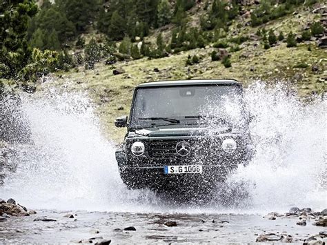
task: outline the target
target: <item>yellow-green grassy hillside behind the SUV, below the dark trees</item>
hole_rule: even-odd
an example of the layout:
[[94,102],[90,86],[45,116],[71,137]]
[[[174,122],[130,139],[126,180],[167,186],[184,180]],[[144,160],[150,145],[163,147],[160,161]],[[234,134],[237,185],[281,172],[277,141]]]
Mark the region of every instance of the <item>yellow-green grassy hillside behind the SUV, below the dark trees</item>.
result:
[[[251,7],[248,7],[251,8]],[[249,9],[250,10],[250,9]],[[201,8],[198,6],[189,11],[190,26],[197,26]],[[295,48],[287,48],[286,41],[278,41],[275,46],[264,49],[261,41],[257,40],[257,30],[275,30],[284,32],[289,30],[300,35],[307,23],[319,21],[321,14],[314,14],[308,8],[298,8],[293,14],[281,17],[274,21],[252,28],[246,25],[250,17],[239,17],[233,21],[230,31],[221,39],[230,40],[233,37],[248,36],[250,39],[239,44],[240,50],[233,52],[227,48],[231,55],[231,68],[225,68],[221,61],[211,61],[210,54],[213,43],[206,48],[197,48],[161,59],[138,59],[132,61],[119,61],[114,65],[106,65],[104,61],[97,63],[95,70],[85,70],[83,66],[58,72],[56,84],[63,86],[67,80],[71,81],[69,89],[87,90],[95,103],[99,106],[99,117],[103,123],[103,131],[115,141],[123,138],[125,129],[115,128],[113,121],[120,115],[128,115],[132,90],[137,84],[147,81],[164,79],[202,79],[202,78],[232,78],[247,84],[255,79],[263,79],[273,83],[277,79],[289,80],[297,88],[300,96],[321,93],[326,86],[327,51],[317,47],[317,41],[305,41],[297,44]],[[157,34],[163,33],[168,43],[172,26],[152,30],[146,41],[155,42]],[[188,56],[197,55],[199,63],[186,66]],[[123,69],[121,75],[113,75],[113,70]],[[156,69],[155,69],[156,68]]]

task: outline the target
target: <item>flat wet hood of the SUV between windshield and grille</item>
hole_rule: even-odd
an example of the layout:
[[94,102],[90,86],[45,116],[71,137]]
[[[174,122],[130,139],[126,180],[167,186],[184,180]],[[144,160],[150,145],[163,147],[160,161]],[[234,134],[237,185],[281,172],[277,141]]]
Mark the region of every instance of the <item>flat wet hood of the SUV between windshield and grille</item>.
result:
[[219,135],[222,133],[232,133],[228,127],[217,128],[143,128],[135,130],[135,134],[147,137],[174,137],[174,136],[201,136]]

